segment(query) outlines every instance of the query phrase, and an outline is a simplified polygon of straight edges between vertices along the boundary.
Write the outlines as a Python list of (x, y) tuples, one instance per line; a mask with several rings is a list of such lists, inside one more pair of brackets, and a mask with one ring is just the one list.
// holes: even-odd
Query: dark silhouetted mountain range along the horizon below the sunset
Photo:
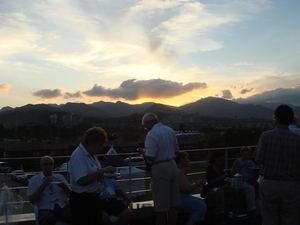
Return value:
[[(278, 104), (280, 105), (280, 104)], [(273, 106), (273, 105), (272, 105)], [(293, 107), (296, 115), (300, 115), (300, 106)], [(132, 114), (145, 114), (148, 112), (160, 112), (170, 115), (194, 114), (197, 116), (226, 117), (226, 118), (258, 118), (270, 119), (274, 109), (261, 105), (239, 104), (233, 101), (208, 97), (180, 107), (146, 102), (142, 104), (127, 104), (124, 102), (94, 102), (92, 104), (67, 103), (55, 104), (28, 104), (22, 107), (3, 107), (0, 110), (0, 124), (27, 124), (49, 123), (49, 116), (56, 114), (79, 114), (83, 117), (112, 118), (125, 117)]]

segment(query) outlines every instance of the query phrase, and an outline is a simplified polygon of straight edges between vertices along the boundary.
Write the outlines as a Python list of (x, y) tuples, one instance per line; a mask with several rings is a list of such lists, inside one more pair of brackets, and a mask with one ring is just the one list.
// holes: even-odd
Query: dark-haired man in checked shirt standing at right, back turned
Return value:
[(289, 130), (293, 110), (280, 105), (274, 130), (259, 138), (253, 157), (261, 164), (260, 199), (263, 225), (298, 225), (300, 197), (300, 135)]

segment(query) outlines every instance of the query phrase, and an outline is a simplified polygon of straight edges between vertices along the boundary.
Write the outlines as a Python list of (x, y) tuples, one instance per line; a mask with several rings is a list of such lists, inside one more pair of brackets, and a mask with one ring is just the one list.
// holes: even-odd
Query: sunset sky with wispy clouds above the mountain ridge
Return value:
[(300, 105), (299, 0), (0, 0), (0, 109)]

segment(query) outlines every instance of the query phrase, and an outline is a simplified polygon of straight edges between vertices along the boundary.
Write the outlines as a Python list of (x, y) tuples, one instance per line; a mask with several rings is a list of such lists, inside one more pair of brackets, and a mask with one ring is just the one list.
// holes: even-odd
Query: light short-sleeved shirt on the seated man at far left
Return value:
[[(66, 185), (68, 182), (61, 174), (52, 174), (53, 181), (63, 181)], [(32, 195), (36, 190), (42, 185), (44, 182), (45, 175), (40, 173), (36, 176), (33, 176), (29, 180), (28, 188), (27, 188), (27, 196)], [(42, 193), (39, 201), (35, 204), (39, 207), (39, 209), (50, 209), (54, 210), (54, 205), (57, 203), (61, 208), (67, 205), (64, 197), (63, 190), (57, 186), (56, 184), (49, 184)]]

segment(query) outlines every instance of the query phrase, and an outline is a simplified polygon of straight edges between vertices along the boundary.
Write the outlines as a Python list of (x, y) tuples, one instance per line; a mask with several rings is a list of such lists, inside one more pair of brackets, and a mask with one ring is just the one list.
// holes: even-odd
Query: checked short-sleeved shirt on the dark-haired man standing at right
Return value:
[(300, 136), (277, 126), (259, 138), (253, 157), (262, 162), (260, 174), (275, 179), (300, 178)]

